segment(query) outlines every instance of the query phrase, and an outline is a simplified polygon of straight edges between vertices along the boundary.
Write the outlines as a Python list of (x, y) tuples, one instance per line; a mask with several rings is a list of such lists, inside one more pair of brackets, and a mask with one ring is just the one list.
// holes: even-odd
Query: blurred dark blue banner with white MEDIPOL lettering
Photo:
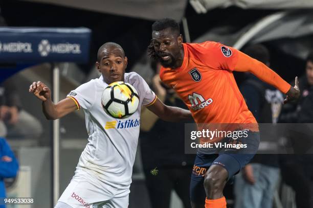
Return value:
[(90, 37), (87, 28), (0, 27), (0, 63), (86, 63)]

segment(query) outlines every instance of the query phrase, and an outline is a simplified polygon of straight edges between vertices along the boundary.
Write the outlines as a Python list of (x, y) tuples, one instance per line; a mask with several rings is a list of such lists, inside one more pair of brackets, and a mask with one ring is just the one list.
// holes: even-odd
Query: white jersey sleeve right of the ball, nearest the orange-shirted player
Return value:
[(157, 96), (150, 89), (147, 82), (137, 73), (131, 72), (129, 83), (132, 84), (138, 91), (140, 100), (143, 106), (149, 106), (157, 101)]

